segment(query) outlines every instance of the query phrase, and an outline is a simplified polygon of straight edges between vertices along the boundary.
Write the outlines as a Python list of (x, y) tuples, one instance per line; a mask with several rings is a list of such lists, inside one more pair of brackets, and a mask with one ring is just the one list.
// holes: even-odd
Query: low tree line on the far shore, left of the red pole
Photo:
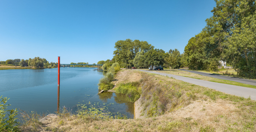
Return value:
[(51, 67), (56, 67), (56, 64), (55, 62), (48, 62), (46, 59), (44, 58), (40, 58), (40, 57), (35, 57), (33, 59), (8, 59), (6, 61), (0, 61), (0, 64), (1, 65), (20, 65), (21, 67), (27, 67), (27, 66), (33, 66), (34, 68), (38, 68), (38, 67), (48, 67), (48, 68), (51, 68)]

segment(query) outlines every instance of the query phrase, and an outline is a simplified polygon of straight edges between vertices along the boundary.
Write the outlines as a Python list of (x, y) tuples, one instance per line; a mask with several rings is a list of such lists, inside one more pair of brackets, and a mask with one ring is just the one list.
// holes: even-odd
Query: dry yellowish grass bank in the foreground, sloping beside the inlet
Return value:
[[(141, 113), (145, 118), (126, 119), (91, 114), (91, 108), (74, 115), (62, 109), (45, 122), (29, 120), (22, 132), (255, 132), (256, 101), (225, 94), (167, 76), (122, 70), (118, 75), (140, 76)], [(116, 76), (116, 84), (126, 83)], [(99, 112), (99, 110), (94, 109)], [(88, 114), (89, 113), (89, 114)], [(100, 113), (100, 112), (99, 112)], [(31, 115), (31, 114), (30, 114)], [(32, 117), (32, 116), (30, 116)], [(35, 117), (35, 116), (34, 116)], [(41, 117), (40, 117), (41, 118)]]

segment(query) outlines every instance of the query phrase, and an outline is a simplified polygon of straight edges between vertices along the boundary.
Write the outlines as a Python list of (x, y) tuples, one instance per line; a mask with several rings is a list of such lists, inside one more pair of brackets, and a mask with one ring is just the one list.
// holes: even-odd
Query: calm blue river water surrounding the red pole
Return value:
[[(134, 104), (122, 94), (98, 94), (103, 71), (90, 67), (61, 67), (60, 107), (76, 110), (76, 104), (99, 103), (110, 112), (134, 117)], [(10, 98), (8, 109), (19, 108), (38, 113), (57, 111), (58, 68), (0, 70), (0, 96)], [(111, 105), (110, 105), (111, 103)]]

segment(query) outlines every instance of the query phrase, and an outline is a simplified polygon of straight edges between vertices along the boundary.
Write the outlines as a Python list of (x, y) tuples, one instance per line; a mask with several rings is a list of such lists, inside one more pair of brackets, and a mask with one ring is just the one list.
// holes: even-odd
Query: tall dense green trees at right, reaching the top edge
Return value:
[(217, 70), (219, 61), (232, 65), (238, 76), (256, 78), (255, 0), (215, 0), (213, 16), (185, 47), (189, 69)]

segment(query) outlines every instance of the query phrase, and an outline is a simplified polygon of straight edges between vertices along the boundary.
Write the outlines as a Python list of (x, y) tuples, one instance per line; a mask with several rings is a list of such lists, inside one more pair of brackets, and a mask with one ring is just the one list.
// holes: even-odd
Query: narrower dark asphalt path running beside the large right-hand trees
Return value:
[(194, 70), (184, 70), (184, 69), (178, 69), (178, 70), (183, 70), (203, 76), (209, 76), (217, 79), (222, 79), (222, 80), (229, 80), (229, 81), (234, 81), (234, 82), (241, 82), (244, 84), (249, 84), (249, 85), (255, 85), (256, 86), (256, 80), (250, 80), (250, 79), (242, 79), (242, 78), (237, 78), (237, 77), (232, 77), (232, 76), (222, 76), (222, 75), (217, 75), (217, 74), (210, 74), (210, 73), (204, 73), (200, 71), (194, 71)]

